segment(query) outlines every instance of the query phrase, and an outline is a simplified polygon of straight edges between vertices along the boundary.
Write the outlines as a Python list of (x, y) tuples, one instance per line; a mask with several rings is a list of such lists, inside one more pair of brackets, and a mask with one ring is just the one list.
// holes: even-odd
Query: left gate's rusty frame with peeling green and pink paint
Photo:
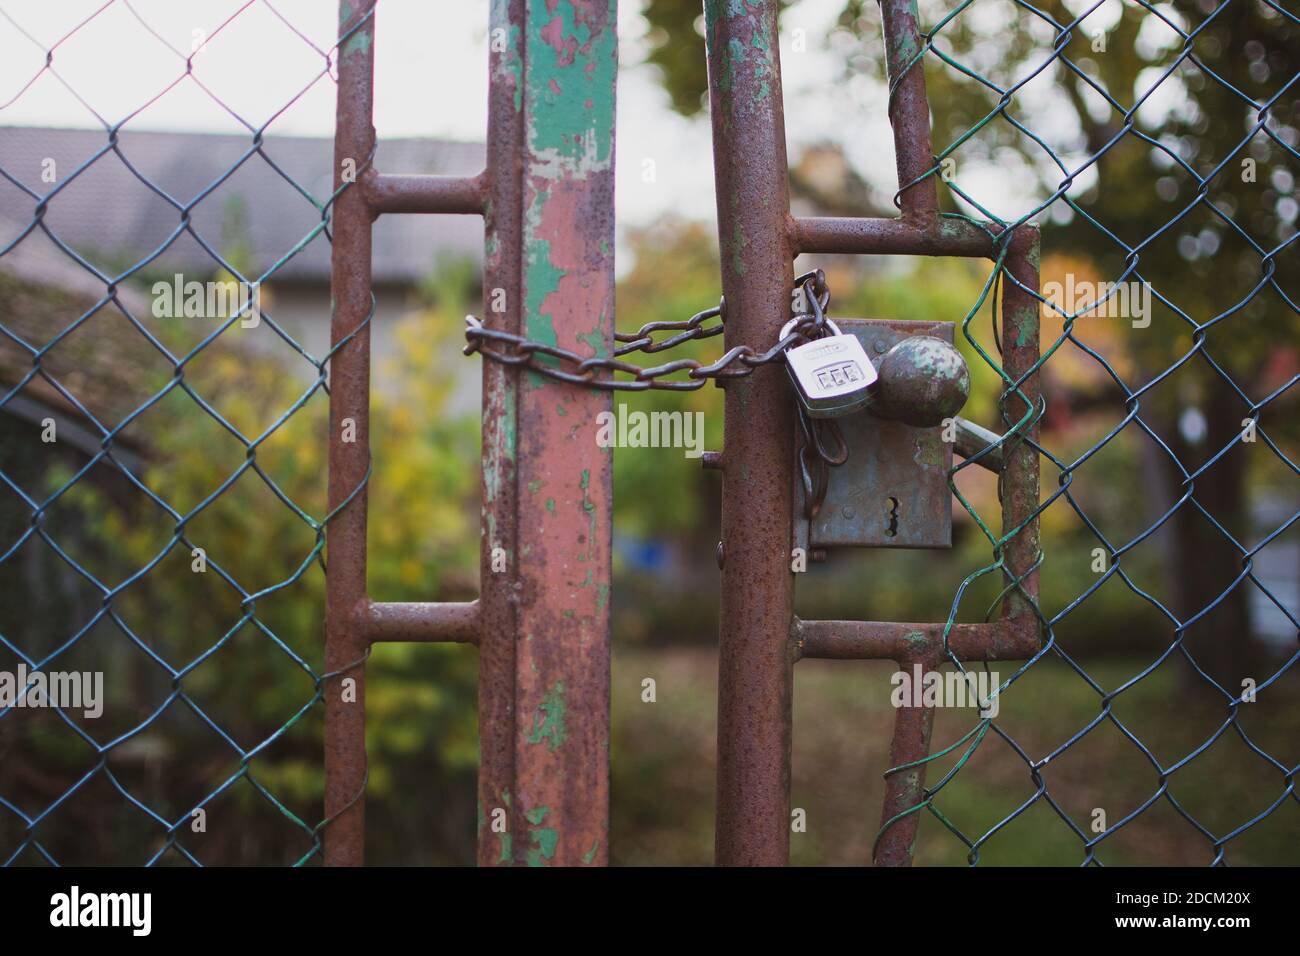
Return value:
[[(376, 217), (482, 216), (485, 303), (504, 303), (503, 311), (488, 304), (485, 324), (592, 355), (612, 352), (615, 7), (615, 0), (494, 0), (486, 169), (442, 177), (373, 168), (376, 0), (341, 0), (326, 865), (364, 860), (364, 662), (382, 641), (478, 648), (481, 865), (608, 861), (612, 473), (595, 433), (610, 394), (484, 363), (477, 601), (372, 601), (365, 540)], [(358, 170), (351, 183), (358, 189), (344, 187), (350, 168)], [(355, 427), (351, 442), (342, 437), (347, 419)]]

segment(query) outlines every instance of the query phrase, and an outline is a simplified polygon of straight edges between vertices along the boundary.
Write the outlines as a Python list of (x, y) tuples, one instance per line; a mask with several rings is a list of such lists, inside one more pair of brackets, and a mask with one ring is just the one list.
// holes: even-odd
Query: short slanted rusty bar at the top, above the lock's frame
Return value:
[(939, 196), (935, 178), (922, 179), (933, 166), (933, 153), (916, 0), (883, 0), (880, 16), (889, 69), (889, 125), (902, 190), (898, 202), (905, 220), (928, 225), (939, 215)]

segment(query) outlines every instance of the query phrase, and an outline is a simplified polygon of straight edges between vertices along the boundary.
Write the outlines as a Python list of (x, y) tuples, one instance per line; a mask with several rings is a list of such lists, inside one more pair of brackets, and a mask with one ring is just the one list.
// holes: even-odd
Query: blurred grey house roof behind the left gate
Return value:
[[(13, 181), (38, 195), (57, 189), (46, 225), (109, 274), (151, 255), (181, 225), (181, 212), (159, 193), (186, 206), (217, 183), (194, 207), (192, 229), (222, 255), (246, 248), (251, 268), (260, 274), (320, 224), (320, 213), (285, 177), (317, 202), (332, 189), (334, 146), (328, 138), (266, 137), (260, 152), (242, 164), (252, 150), (251, 135), (122, 130), (116, 150), (105, 151), (108, 144), (104, 130), (0, 127), (0, 250), (35, 215), (36, 200)], [(53, 183), (42, 181), (49, 159), (55, 161)], [(394, 173), (467, 176), (480, 172), (482, 164), (481, 143), (438, 139), (389, 139), (380, 143), (376, 155), (376, 165)], [(477, 256), (481, 250), (482, 225), (472, 217), (385, 216), (374, 225), (374, 280), (415, 282), (441, 256)], [(329, 242), (318, 234), (269, 281), (328, 281), (329, 255)], [(182, 234), (150, 271), (203, 276), (216, 265), (198, 241)]]

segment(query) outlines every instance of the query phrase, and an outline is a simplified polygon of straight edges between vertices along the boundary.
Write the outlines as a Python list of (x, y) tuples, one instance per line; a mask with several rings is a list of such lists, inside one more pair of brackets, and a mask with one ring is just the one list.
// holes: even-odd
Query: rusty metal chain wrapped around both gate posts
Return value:
[[(485, 359), (499, 362), (503, 365), (528, 368), (547, 378), (606, 392), (646, 392), (650, 389), (694, 392), (708, 380), (742, 378), (760, 365), (784, 362), (788, 349), (826, 334), (826, 310), (831, 304), (831, 287), (826, 282), (826, 273), (822, 269), (806, 272), (794, 280), (794, 286), (802, 287), (802, 299), (807, 311), (796, 313), (798, 321), (790, 326), (788, 334), (763, 352), (755, 351), (748, 345), (737, 345), (710, 364), (696, 359), (677, 359), (644, 368), (630, 362), (623, 362), (620, 356), (630, 352), (660, 352), (684, 342), (722, 334), (727, 321), (725, 298), (719, 299), (714, 308), (697, 312), (690, 319), (646, 323), (636, 332), (615, 332), (614, 341), (618, 345), (614, 349), (614, 358), (610, 359), (584, 358), (568, 349), (537, 342), (512, 332), (489, 329), (471, 315), (465, 316), (467, 343), (464, 354), (478, 352)], [(705, 325), (705, 321), (712, 317), (718, 319), (718, 324)], [(676, 332), (677, 334), (656, 342), (654, 336), (659, 332)], [(493, 347), (489, 343), (500, 343), (504, 347)], [(560, 364), (543, 362), (538, 358), (540, 355), (559, 359)], [(611, 373), (624, 372), (632, 378), (614, 378), (612, 375), (602, 377), (601, 373), (606, 371)], [(681, 371), (686, 372), (685, 380), (667, 377)], [(800, 419), (798, 462), (800, 477), (803, 481), (803, 511), (805, 516), (811, 520), (826, 499), (829, 470), (849, 459), (849, 449), (835, 420), (810, 418), (798, 399), (796, 399), (794, 407)]]

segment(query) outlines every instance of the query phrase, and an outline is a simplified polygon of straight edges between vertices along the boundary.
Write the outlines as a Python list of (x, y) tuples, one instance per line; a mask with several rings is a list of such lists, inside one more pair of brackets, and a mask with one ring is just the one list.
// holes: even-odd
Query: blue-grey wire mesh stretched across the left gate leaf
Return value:
[[(263, 18), (260, 29), (285, 33), (283, 49), (302, 44), (316, 60), (315, 68), (299, 74), (298, 92), (257, 121), (224, 101), (202, 61), (209, 47), (228, 38), (238, 44), (240, 20), (251, 14)], [(174, 64), (170, 82), (125, 116), (101, 116), (91, 103), (94, 94), (75, 88), (61, 73), (66, 60), (88, 56), (81, 38), (99, 17), (130, 18), (134, 29), (156, 40), (150, 47), (152, 65)], [(51, 168), (43, 178), (39, 164), (0, 168), (5, 224), (0, 291), (6, 306), (0, 312), (0, 414), (18, 423), (6, 427), (0, 460), (3, 669), (25, 667), (34, 675), (79, 671), (87, 662), (101, 667), (108, 685), (104, 710), (112, 718), (104, 731), (94, 719), (79, 719), (74, 709), (52, 708), (43, 711), (43, 722), (32, 723), (35, 711), (27, 708), (36, 701), (26, 696), (35, 676), (20, 689), (23, 700), (0, 710), (6, 753), (0, 774), (0, 858), (152, 865), (199, 864), (214, 855), (225, 861), (311, 861), (321, 851), (328, 822), (320, 818), (320, 741), (313, 722), (322, 682), (332, 676), (322, 672), (316, 645), (324, 613), (325, 531), (333, 515), (325, 512), (321, 462), (313, 466), (309, 455), (303, 457), (307, 453), (286, 451), (281, 442), (286, 436), (306, 437), (324, 457), (322, 393), (329, 389), (330, 356), (343, 342), (312, 354), (277, 323), (274, 303), (257, 303), (251, 293), (220, 315), (200, 308), (200, 315), (188, 317), (160, 316), (140, 282), (166, 267), (182, 242), (192, 243), (191, 250), (196, 245), (208, 259), (207, 269), (191, 265), (186, 281), (224, 276), (246, 290), (260, 290), (304, 254), (328, 250), (332, 206), (351, 178), (333, 193), (332, 177), (295, 179), (266, 135), (311, 90), (318, 85), (333, 90), (338, 48), (347, 36), (325, 48), (274, 4), (256, 0), (208, 25), (190, 49), (169, 42), (129, 0), (99, 5), (57, 38), (32, 35), (25, 10), (6, 4), (0, 8), (0, 34), (6, 49), (34, 48), (39, 64), (26, 83), (0, 94), (8, 98), (0, 101), (0, 120), (4, 107), (18, 103), (35, 85), (53, 82), (101, 129), (98, 144), (73, 169)], [(285, 70), (277, 73), (283, 75)], [(140, 140), (131, 137), (147, 135), (135, 134), (133, 124), (178, 90), (200, 91), (243, 137), (238, 157), (192, 194), (177, 194), (146, 172), (139, 153), (133, 157), (131, 144)], [(321, 165), (328, 169), (329, 143), (320, 143)], [(39, 153), (32, 159), (39, 163)], [(166, 204), (170, 217), (166, 235), (131, 261), (113, 261), (118, 232), (104, 211), (113, 196), (88, 196), (88, 225), (103, 235), (96, 248), (86, 242), (74, 247), (51, 213), (79, 183), (94, 181), (88, 173), (108, 164), (125, 166), (150, 202)], [(283, 248), (250, 248), (251, 237), (238, 228), (229, 235), (213, 234), (211, 213), (226, 202), (225, 186), (254, 165), (273, 170), (278, 189), (312, 209), (313, 224)], [(84, 238), (87, 229), (81, 233)], [(155, 306), (157, 294), (155, 287)], [(173, 306), (165, 312), (179, 308), (178, 302)], [(255, 308), (260, 325), (254, 324)], [(178, 321), (169, 324), (173, 317)], [(322, 310), (321, 325), (328, 326), (328, 319)], [(250, 328), (261, 337), (257, 349), (239, 341)], [(213, 372), (222, 367), (225, 378)], [(265, 402), (272, 405), (261, 407)], [(177, 423), (203, 424), (168, 436)], [(160, 492), (160, 481), (170, 492)], [(303, 489), (311, 501), (295, 499)], [(229, 537), (218, 544), (204, 522), (235, 499), (222, 520), (238, 525), (242, 515), (264, 533), (246, 527), (250, 533), (234, 544)], [(124, 514), (125, 522), (113, 516)], [(276, 515), (283, 516), (278, 524), (272, 520)], [(148, 528), (161, 531), (152, 541), (126, 546)], [(272, 528), (287, 529), (286, 540), (268, 540)], [(277, 572), (270, 580), (255, 580), (261, 575), (254, 572), (252, 559), (272, 553)], [(315, 607), (316, 619), (289, 627), (277, 604), (286, 593), (299, 609)], [(200, 615), (209, 605), (230, 602), (238, 610), (229, 627), (216, 632), (174, 613), (188, 606)], [(162, 613), (168, 609), (170, 619)], [(217, 667), (213, 659), (222, 652), (226, 657)], [(298, 688), (291, 705), (281, 700), (282, 687)], [(142, 774), (142, 765), (155, 770)], [(186, 783), (160, 786), (157, 767), (168, 780)], [(268, 775), (270, 784), (264, 782)], [(224, 800), (239, 801), (246, 821), (260, 816), (278, 821), (259, 829), (255, 843), (263, 845), (231, 853), (229, 842), (238, 844), (242, 827), (224, 826), (228, 849), (198, 848), (207, 832), (204, 814), (216, 813)], [(95, 826), (75, 810), (82, 801), (90, 804), (86, 810), (94, 812)], [(268, 839), (277, 826), (283, 836)]]

